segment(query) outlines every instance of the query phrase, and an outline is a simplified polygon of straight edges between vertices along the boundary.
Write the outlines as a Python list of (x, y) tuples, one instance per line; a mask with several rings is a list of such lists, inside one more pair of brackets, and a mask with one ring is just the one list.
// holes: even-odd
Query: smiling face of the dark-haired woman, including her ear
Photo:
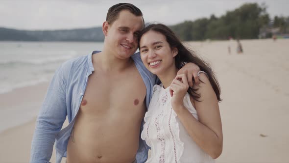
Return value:
[(161, 75), (175, 67), (176, 48), (170, 48), (166, 37), (155, 31), (143, 34), (140, 40), (140, 53), (145, 67), (155, 75)]

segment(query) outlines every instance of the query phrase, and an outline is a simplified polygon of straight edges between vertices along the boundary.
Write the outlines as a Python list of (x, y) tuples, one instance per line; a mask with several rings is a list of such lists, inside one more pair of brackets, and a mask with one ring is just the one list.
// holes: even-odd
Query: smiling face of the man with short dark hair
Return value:
[(136, 52), (138, 34), (144, 27), (142, 16), (135, 16), (128, 10), (122, 10), (118, 19), (107, 26), (107, 49), (111, 53), (125, 59)]

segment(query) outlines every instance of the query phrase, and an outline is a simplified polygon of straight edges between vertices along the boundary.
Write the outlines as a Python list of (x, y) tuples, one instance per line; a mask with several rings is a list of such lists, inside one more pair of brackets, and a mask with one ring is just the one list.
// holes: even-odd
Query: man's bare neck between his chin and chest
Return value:
[(103, 71), (123, 71), (133, 63), (131, 57), (126, 59), (117, 58), (116, 55), (107, 51), (92, 56), (93, 63), (97, 63)]

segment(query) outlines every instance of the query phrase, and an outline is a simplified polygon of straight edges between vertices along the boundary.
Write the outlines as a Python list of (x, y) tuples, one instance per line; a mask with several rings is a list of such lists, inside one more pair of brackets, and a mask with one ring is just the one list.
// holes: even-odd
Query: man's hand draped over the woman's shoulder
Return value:
[(196, 64), (194, 63), (187, 63), (184, 67), (182, 67), (177, 75), (180, 75), (180, 74), (185, 74), (185, 71), (188, 71), (188, 74), (187, 74), (187, 79), (188, 79), (188, 83), (189, 83), (189, 86), (190, 87), (193, 87), (193, 79), (194, 79), (194, 82), (195, 84), (199, 84), (199, 77), (198, 77), (198, 72), (200, 71), (200, 68), (199, 66), (197, 66)]

